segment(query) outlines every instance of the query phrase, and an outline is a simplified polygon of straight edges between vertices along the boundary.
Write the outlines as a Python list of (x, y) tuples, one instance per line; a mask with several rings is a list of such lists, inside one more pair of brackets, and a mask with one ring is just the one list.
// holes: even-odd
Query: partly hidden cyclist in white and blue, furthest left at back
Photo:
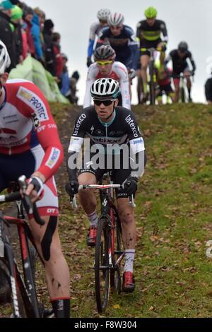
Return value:
[(100, 31), (102, 28), (108, 25), (107, 17), (110, 15), (109, 9), (100, 9), (98, 11), (98, 20), (99, 22), (95, 22), (90, 25), (90, 35), (89, 35), (89, 45), (88, 45), (88, 56), (87, 56), (87, 66), (89, 67), (90, 64), (93, 64), (91, 57), (93, 55), (94, 44), (95, 44), (95, 37), (100, 35)]

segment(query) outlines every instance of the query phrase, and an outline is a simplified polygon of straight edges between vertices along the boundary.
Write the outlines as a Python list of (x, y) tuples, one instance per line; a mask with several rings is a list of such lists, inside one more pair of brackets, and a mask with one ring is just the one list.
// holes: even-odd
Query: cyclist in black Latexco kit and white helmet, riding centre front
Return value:
[[(83, 109), (76, 119), (68, 153), (69, 184), (66, 191), (70, 196), (78, 192), (79, 184), (96, 184), (105, 171), (112, 171), (112, 180), (115, 184), (123, 184), (117, 189), (117, 208), (123, 227), (123, 242), (125, 249), (124, 285), (123, 290), (132, 292), (135, 287), (133, 275), (133, 262), (136, 244), (136, 221), (134, 209), (129, 205), (128, 196), (135, 194), (137, 182), (144, 172), (144, 143), (136, 121), (136, 117), (124, 107), (117, 107), (120, 93), (119, 83), (112, 78), (100, 78), (91, 87), (94, 106)], [(76, 158), (85, 136), (90, 138), (89, 158), (78, 171)], [(119, 149), (124, 147), (126, 149)], [(91, 150), (97, 148), (98, 155), (103, 156), (105, 165), (95, 165)], [(113, 150), (114, 149), (114, 150)], [(119, 155), (120, 165), (116, 167), (115, 157)], [(112, 157), (109, 168), (107, 158)], [(126, 159), (131, 162), (124, 166)], [(137, 166), (137, 167), (136, 167)], [(98, 215), (96, 213), (96, 198), (90, 189), (81, 190), (79, 198), (84, 211), (90, 220), (90, 230), (87, 243), (95, 246), (97, 235)]]

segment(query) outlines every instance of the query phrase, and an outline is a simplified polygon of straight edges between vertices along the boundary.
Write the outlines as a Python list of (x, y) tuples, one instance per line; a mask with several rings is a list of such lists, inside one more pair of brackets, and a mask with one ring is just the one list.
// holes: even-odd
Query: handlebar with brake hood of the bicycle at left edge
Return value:
[(27, 182), (26, 182), (26, 177), (23, 175), (22, 177), (19, 177), (18, 179), (20, 189), (23, 191), (23, 196), (20, 194), (19, 191), (13, 192), (11, 194), (6, 194), (6, 195), (0, 195), (0, 203), (6, 203), (6, 202), (13, 202), (13, 201), (23, 201), (23, 206), (25, 207), (25, 211), (33, 215), (35, 218), (35, 221), (38, 225), (45, 225), (45, 220), (42, 220), (40, 218), (40, 214), (37, 211), (37, 206), (35, 203), (32, 203), (30, 201), (30, 197), (25, 194), (25, 191), (27, 189)]

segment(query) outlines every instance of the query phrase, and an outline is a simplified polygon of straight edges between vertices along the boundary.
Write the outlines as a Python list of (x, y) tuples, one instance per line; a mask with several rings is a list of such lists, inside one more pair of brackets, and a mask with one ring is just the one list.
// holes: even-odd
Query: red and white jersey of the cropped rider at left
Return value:
[(20, 154), (42, 146), (45, 155), (37, 171), (49, 179), (61, 165), (64, 152), (45, 96), (34, 83), (23, 80), (7, 81), (4, 92), (0, 153)]

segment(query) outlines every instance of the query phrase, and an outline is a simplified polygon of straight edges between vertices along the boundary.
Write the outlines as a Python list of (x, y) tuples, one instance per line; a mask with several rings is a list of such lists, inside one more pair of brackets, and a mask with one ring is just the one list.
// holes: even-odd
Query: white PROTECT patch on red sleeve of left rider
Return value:
[(22, 86), (18, 90), (17, 97), (34, 110), (40, 122), (49, 120), (47, 107), (38, 95)]

